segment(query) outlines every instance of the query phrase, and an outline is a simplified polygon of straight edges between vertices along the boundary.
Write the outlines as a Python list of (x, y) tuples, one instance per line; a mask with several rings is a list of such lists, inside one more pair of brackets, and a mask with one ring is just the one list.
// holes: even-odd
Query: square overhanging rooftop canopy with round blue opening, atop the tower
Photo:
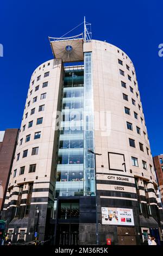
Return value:
[(68, 38), (49, 37), (54, 58), (61, 58), (63, 62), (82, 62), (83, 57), (83, 33)]

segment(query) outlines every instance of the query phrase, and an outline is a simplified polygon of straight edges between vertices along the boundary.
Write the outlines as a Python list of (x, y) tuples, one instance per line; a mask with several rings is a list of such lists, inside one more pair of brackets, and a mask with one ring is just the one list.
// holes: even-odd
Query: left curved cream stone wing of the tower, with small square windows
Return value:
[(53, 115), (60, 107), (62, 74), (61, 59), (53, 59), (41, 64), (30, 80), (3, 211), (12, 242), (33, 241), (38, 227), (43, 240), (45, 228), (50, 229), (46, 220), (54, 205), (57, 149)]

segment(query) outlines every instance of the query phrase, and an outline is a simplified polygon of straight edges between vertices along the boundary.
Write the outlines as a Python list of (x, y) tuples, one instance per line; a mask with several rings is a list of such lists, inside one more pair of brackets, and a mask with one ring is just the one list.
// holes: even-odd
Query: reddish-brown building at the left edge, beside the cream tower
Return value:
[(9, 175), (16, 149), (18, 129), (0, 131), (0, 213), (8, 188)]

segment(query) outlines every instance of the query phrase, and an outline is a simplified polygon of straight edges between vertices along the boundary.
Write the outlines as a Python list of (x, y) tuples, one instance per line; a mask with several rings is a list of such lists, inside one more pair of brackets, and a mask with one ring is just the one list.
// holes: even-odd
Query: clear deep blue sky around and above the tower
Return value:
[(120, 47), (133, 60), (152, 154), (163, 153), (161, 1), (8, 0), (0, 10), (0, 130), (20, 127), (30, 76), (53, 58), (48, 36), (63, 35), (85, 15), (93, 39)]

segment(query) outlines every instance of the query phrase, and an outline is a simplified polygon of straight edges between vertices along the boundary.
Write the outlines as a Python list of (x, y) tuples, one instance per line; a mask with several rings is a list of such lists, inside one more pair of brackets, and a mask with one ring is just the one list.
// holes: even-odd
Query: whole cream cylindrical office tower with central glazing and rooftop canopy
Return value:
[(32, 74), (5, 199), (9, 239), (37, 232), (55, 245), (96, 245), (98, 231), (101, 245), (139, 245), (148, 234), (160, 242), (133, 63), (87, 34), (49, 40), (54, 59)]

